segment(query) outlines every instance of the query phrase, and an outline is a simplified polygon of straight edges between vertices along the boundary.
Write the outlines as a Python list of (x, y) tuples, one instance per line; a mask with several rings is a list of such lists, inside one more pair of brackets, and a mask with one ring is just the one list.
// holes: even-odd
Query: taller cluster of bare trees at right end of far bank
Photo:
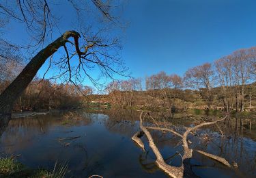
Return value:
[[(256, 48), (234, 51), (214, 64), (190, 68), (184, 77), (188, 86), (203, 88), (203, 97), (210, 108), (214, 98), (222, 101), (226, 112), (244, 110), (245, 87), (255, 81)], [(213, 88), (218, 88), (214, 94)]]

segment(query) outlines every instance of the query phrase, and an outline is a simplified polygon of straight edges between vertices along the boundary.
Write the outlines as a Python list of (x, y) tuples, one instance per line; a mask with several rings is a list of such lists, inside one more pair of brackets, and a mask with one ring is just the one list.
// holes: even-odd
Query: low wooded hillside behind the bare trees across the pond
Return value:
[[(241, 86), (240, 86), (241, 87)], [(224, 110), (221, 87), (212, 88), (211, 109)], [(235, 87), (231, 87), (235, 91)], [(92, 94), (90, 101), (111, 103), (112, 107), (147, 108), (150, 110), (170, 109), (186, 111), (188, 108), (208, 109), (205, 100), (205, 88), (199, 90), (162, 88), (155, 90), (113, 90), (109, 94)], [(236, 110), (236, 97), (231, 99), (231, 110)], [(244, 110), (256, 110), (256, 82), (244, 87)], [(251, 108), (250, 108), (251, 107)], [(239, 108), (238, 108), (239, 110)]]

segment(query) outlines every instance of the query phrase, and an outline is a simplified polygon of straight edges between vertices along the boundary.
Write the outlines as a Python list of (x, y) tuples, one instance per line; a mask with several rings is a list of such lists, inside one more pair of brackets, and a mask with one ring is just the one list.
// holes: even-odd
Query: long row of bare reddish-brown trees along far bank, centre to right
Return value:
[[(154, 100), (158, 106), (175, 110), (175, 106), (181, 105), (181, 103), (183, 103), (182, 107), (186, 108), (189, 107), (188, 101), (201, 99), (203, 100), (201, 105), (205, 105), (208, 109), (222, 107), (225, 112), (231, 112), (231, 110), (242, 112), (244, 111), (245, 97), (249, 96), (253, 99), (255, 97), (255, 86), (253, 85), (256, 73), (255, 51), (255, 47), (234, 51), (212, 64), (205, 63), (189, 68), (183, 77), (175, 74), (167, 75), (162, 71), (156, 75), (145, 77), (144, 81), (142, 79), (113, 81), (109, 84), (107, 92), (111, 95), (113, 103), (119, 105), (122, 103), (123, 106), (126, 105), (124, 101), (128, 100), (128, 106), (131, 106), (130, 103), (145, 105)], [(143, 82), (145, 87), (141, 87)], [(125, 84), (140, 87), (126, 88), (123, 86)], [(134, 97), (134, 93), (141, 94), (138, 92), (141, 90), (145, 90), (144, 95), (149, 98), (142, 103), (136, 101), (138, 97)], [(128, 94), (133, 94), (133, 97), (130, 96), (127, 99)], [(249, 104), (247, 103), (247, 107), (250, 109), (253, 107), (251, 102), (252, 99)], [(193, 106), (190, 105), (190, 107)]]

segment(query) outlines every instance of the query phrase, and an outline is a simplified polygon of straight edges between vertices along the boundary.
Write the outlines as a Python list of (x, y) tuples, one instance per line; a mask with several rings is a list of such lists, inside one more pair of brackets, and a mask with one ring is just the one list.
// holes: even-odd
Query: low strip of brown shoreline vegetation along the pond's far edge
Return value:
[[(86, 105), (85, 107), (77, 107), (77, 108), (72, 108), (69, 110), (35, 110), (33, 112), (31, 111), (23, 111), (23, 112), (14, 112), (12, 114), (12, 118), (25, 118), (29, 116), (39, 116), (39, 115), (46, 115), (46, 114), (54, 114), (57, 112), (62, 112), (63, 113), (63, 125), (70, 123), (70, 120), (81, 120), (81, 116), (79, 113), (76, 111), (78, 110), (86, 110), (87, 112), (111, 112), (111, 110), (115, 111), (122, 111), (122, 110), (129, 110), (129, 111), (134, 111), (134, 112), (141, 112), (141, 111), (147, 111), (147, 112), (160, 112), (160, 113), (168, 113), (169, 118), (184, 118), (184, 117), (192, 117), (192, 116), (218, 116), (222, 117), (226, 115), (227, 113), (223, 110), (209, 110), (209, 109), (197, 109), (197, 108), (189, 108), (186, 111), (180, 111), (176, 110), (175, 112), (171, 112), (168, 109), (160, 109), (158, 110), (150, 110), (149, 108), (146, 107), (132, 107), (132, 108), (120, 108), (120, 107), (115, 107), (111, 105)], [(256, 111), (251, 110), (251, 111), (243, 111), (243, 112), (236, 112), (236, 111), (231, 111), (229, 113), (229, 116), (233, 118), (242, 118), (246, 120), (256, 120)]]

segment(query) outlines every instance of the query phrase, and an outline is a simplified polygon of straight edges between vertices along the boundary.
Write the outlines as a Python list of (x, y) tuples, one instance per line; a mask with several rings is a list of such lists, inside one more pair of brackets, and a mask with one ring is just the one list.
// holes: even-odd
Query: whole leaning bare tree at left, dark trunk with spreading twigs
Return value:
[[(57, 18), (51, 10), (51, 4), (46, 0), (38, 1), (16, 1), (16, 3), (0, 3), (0, 10), (3, 16), (7, 16), (12, 21), (18, 21), (25, 24), (33, 44), (23, 47), (27, 49), (38, 49), (38, 53), (29, 60), (29, 63), (23, 71), (12, 81), (0, 95), (0, 117), (1, 123), (6, 124), (10, 119), (12, 107), (16, 99), (27, 88), (29, 83), (35, 77), (38, 70), (49, 58), (49, 67), (54, 64), (59, 66), (59, 74), (52, 76), (51, 79), (59, 79), (77, 86), (86, 76), (93, 84), (99, 84), (98, 80), (91, 77), (89, 71), (98, 67), (101, 71), (100, 77), (113, 77), (114, 73), (124, 75), (126, 68), (122, 65), (118, 51), (120, 49), (119, 38), (108, 36), (109, 31), (106, 27), (118, 27), (118, 21), (111, 16), (111, 10), (118, 5), (111, 4), (111, 1), (91, 0), (89, 1), (72, 0), (67, 1), (69, 8), (74, 8), (77, 12), (77, 21), (81, 21), (83, 10), (86, 8), (96, 8), (102, 16), (107, 19), (102, 21), (98, 28), (87, 28), (81, 26), (81, 33), (78, 31), (66, 31), (59, 38), (51, 41), (48, 34), (57, 28)], [(58, 3), (63, 3), (59, 1)], [(95, 12), (95, 11), (94, 11)], [(80, 18), (79, 18), (80, 17)], [(94, 21), (94, 19), (91, 19)], [(98, 23), (101, 24), (101, 23)], [(83, 25), (83, 23), (79, 23)], [(107, 26), (106, 26), (107, 25)], [(89, 30), (90, 29), (90, 30)], [(73, 39), (73, 42), (70, 41)], [(82, 42), (79, 39), (83, 39)], [(44, 47), (45, 42), (49, 44)], [(59, 50), (62, 48), (62, 50)], [(61, 58), (54, 58), (56, 51), (63, 54)], [(3, 57), (5, 58), (5, 57)], [(76, 62), (73, 62), (76, 61)], [(48, 70), (46, 71), (48, 72)]]

